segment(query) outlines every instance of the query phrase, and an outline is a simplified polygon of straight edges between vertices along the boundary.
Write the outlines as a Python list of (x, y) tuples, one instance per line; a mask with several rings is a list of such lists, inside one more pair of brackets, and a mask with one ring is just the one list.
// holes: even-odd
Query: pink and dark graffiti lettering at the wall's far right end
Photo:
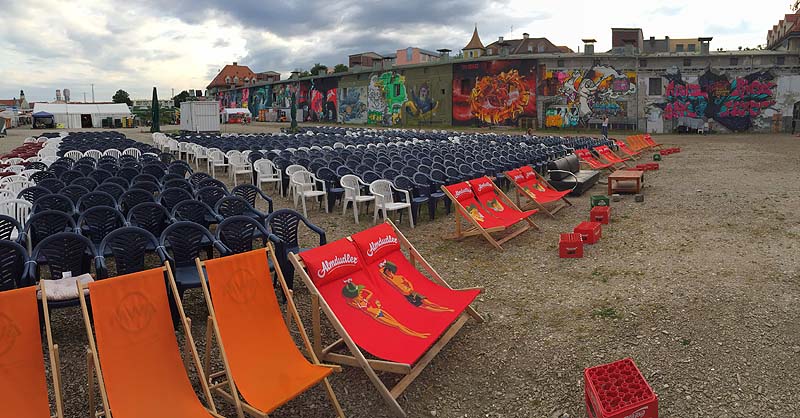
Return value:
[(731, 131), (746, 131), (776, 103), (777, 84), (768, 71), (730, 79), (707, 70), (696, 82), (674, 71), (664, 78), (668, 80), (665, 100), (657, 106), (664, 110), (665, 120), (713, 119)]

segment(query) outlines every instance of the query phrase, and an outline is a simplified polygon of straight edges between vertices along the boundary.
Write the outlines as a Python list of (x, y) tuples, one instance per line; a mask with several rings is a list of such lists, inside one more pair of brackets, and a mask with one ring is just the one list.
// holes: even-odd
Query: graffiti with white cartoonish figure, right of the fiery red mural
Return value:
[(585, 126), (590, 118), (628, 117), (627, 102), (636, 93), (636, 73), (610, 66), (588, 70), (547, 71), (542, 95), (561, 98), (564, 106), (550, 106), (546, 127)]

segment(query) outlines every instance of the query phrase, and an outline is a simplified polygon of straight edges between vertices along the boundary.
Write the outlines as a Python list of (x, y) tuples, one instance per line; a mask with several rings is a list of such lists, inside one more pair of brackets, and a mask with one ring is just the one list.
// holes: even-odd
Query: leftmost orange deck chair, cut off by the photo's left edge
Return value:
[[(44, 285), (41, 292), (42, 300), (47, 300)], [(4, 417), (64, 417), (58, 346), (53, 344), (50, 313), (47, 304), (43, 303), (47, 354), (56, 404), (55, 415), (50, 413), (38, 305), (36, 287), (33, 286), (0, 293), (0, 415)]]

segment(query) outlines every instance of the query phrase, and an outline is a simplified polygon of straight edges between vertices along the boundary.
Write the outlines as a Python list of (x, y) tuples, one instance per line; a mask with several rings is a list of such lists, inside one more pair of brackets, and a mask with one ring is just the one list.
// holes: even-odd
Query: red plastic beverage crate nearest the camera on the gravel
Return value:
[(589, 418), (658, 418), (658, 397), (633, 360), (583, 371)]

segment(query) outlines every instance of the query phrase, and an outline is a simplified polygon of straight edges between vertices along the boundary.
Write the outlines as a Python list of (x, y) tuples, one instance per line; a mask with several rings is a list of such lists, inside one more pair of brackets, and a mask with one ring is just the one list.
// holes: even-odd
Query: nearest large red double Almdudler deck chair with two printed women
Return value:
[[(451, 288), (391, 221), (289, 258), (311, 293), (314, 351), (361, 367), (398, 417), (397, 398), (469, 318), (483, 322), (470, 307), (481, 290)], [(320, 310), (341, 337), (328, 346)], [(377, 372), (403, 377), (389, 389)]]

